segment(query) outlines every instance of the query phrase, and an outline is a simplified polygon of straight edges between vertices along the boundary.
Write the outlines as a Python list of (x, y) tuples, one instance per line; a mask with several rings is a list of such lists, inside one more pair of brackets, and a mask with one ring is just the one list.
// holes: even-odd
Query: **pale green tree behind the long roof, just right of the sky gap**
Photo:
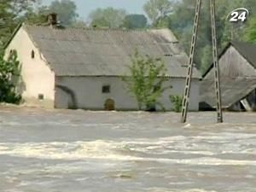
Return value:
[(169, 0), (149, 0), (144, 4), (144, 11), (152, 22), (152, 26), (159, 26), (167, 15), (172, 13), (172, 2)]

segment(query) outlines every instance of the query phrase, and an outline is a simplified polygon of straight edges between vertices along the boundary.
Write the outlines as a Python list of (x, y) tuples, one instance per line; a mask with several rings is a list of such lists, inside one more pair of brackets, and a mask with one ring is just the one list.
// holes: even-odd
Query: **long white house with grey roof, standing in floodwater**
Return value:
[[(136, 110), (137, 102), (121, 77), (129, 73), (135, 49), (166, 62), (169, 81), (160, 102), (172, 109), (169, 96), (183, 95), (188, 56), (168, 29), (109, 30), (20, 25), (6, 54), (18, 53), (20, 91), (25, 102), (47, 108)], [(200, 74), (192, 80), (190, 110), (199, 108)]]

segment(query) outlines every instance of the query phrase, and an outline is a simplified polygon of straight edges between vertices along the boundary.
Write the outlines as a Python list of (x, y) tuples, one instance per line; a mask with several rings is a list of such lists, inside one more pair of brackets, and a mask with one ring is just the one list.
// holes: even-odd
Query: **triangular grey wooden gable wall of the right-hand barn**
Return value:
[[(255, 77), (255, 68), (234, 48), (230, 46), (219, 59), (219, 71), (221, 79), (237, 77)], [(205, 79), (214, 80), (214, 70), (207, 73)]]

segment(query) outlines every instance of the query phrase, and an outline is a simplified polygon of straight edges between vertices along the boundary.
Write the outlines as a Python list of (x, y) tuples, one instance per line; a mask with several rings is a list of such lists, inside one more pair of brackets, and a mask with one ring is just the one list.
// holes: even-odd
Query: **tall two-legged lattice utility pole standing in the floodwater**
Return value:
[[(210, 0), (211, 7), (211, 23), (212, 23), (212, 57), (213, 57), (213, 67), (214, 67), (214, 78), (215, 78), (215, 92), (217, 99), (217, 113), (218, 113), (218, 123), (223, 122), (223, 113), (221, 108), (221, 92), (219, 85), (219, 68), (218, 68), (218, 49), (217, 49), (217, 40), (216, 40), (216, 25), (215, 25), (215, 0)], [(194, 56), (195, 56), (195, 45), (197, 39), (197, 31), (199, 26), (199, 17), (201, 13), (201, 0), (196, 0), (195, 6), (195, 19), (194, 19), (194, 28), (191, 41), (191, 47), (189, 52), (189, 67), (188, 74), (186, 78), (186, 85), (183, 94), (183, 107), (182, 107), (182, 123), (187, 121), (187, 114), (189, 108), (189, 95), (191, 90), (191, 79), (193, 77), (193, 66), (194, 66)]]

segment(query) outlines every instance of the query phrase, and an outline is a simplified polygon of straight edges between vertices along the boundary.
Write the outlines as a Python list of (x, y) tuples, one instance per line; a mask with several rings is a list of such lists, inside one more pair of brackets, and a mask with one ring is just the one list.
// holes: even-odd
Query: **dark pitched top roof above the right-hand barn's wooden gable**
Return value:
[[(221, 54), (218, 56), (218, 58), (221, 58), (222, 55), (226, 52), (227, 49), (230, 48), (230, 46), (235, 47), (235, 49), (253, 66), (256, 68), (256, 44), (253, 43), (245, 43), (245, 42), (237, 42), (237, 41), (231, 41), (227, 46), (224, 48), (224, 50), (221, 52)], [(202, 75), (202, 77), (206, 77), (207, 73), (211, 71), (213, 67), (212, 65), (207, 69), (207, 71)]]

